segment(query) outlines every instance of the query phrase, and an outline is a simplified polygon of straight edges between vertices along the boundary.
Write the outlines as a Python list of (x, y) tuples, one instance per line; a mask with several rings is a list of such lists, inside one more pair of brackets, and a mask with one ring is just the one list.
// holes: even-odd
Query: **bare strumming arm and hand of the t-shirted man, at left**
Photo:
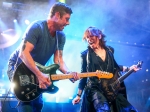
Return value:
[(22, 49), (20, 50), (19, 57), (24, 62), (24, 64), (36, 75), (39, 86), (42, 89), (47, 88), (51, 84), (50, 78), (48, 75), (43, 74), (35, 65), (35, 62), (31, 56), (31, 51), (33, 50), (34, 45), (28, 41), (25, 41), (22, 45)]

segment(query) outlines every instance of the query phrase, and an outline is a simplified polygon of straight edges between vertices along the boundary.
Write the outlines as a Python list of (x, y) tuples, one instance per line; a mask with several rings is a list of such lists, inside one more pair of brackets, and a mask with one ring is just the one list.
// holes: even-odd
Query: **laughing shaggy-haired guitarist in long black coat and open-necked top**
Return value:
[[(87, 41), (88, 49), (81, 53), (81, 72), (101, 70), (113, 73), (114, 76), (111, 79), (80, 79), (78, 92), (72, 103), (78, 104), (84, 91), (80, 112), (137, 112), (126, 98), (123, 79), (140, 68), (137, 65), (119, 66), (113, 56), (114, 49), (106, 46), (105, 35), (98, 28), (86, 29), (83, 39)], [(128, 72), (121, 77), (119, 71)]]

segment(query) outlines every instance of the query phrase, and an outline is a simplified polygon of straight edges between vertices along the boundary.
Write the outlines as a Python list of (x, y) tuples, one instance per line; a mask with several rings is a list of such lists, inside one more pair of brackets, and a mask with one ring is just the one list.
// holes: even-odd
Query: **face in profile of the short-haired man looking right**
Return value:
[(63, 30), (65, 26), (69, 25), (70, 14), (64, 14), (62, 17), (59, 16), (57, 30)]

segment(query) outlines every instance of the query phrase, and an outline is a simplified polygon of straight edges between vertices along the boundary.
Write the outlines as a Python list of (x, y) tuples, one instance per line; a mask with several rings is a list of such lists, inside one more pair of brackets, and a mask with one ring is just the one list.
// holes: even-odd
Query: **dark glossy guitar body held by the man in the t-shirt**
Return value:
[[(59, 65), (53, 64), (49, 66), (49, 75), (56, 74)], [(12, 79), (14, 83), (14, 93), (17, 99), (28, 102), (36, 99), (41, 93), (47, 92), (54, 94), (58, 91), (58, 87), (53, 84), (47, 89), (40, 89), (36, 75), (29, 70), (24, 63), (21, 63), (14, 72)]]

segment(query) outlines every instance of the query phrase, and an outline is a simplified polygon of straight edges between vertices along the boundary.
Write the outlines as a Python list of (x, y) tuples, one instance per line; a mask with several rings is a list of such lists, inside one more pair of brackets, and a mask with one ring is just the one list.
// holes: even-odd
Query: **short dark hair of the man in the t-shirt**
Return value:
[(50, 9), (50, 17), (53, 17), (56, 12), (60, 13), (60, 17), (62, 17), (65, 13), (72, 14), (72, 9), (65, 3), (57, 2)]

